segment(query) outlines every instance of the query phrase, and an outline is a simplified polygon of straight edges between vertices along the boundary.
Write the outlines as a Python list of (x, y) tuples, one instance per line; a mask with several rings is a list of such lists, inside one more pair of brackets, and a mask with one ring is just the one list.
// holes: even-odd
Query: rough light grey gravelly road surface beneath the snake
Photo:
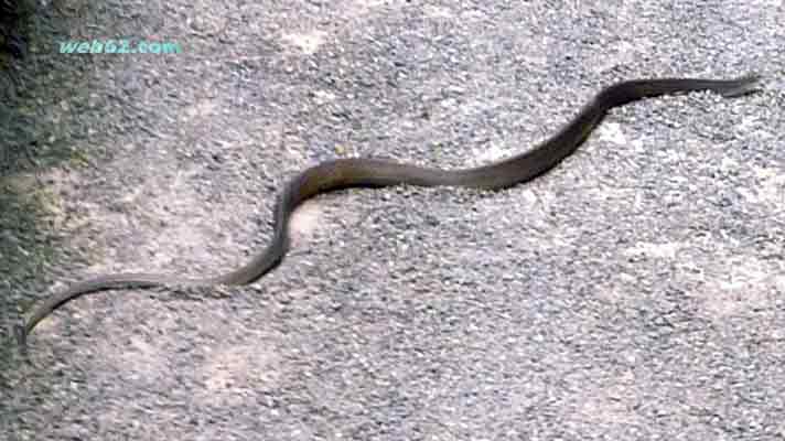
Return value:
[[(615, 109), (509, 190), (320, 196), (249, 287), (68, 303), (3, 344), (7, 439), (785, 439), (781, 1), (50, 8), (37, 144), (78, 154), (6, 176), (47, 197), (0, 240), (52, 251), (0, 283), (3, 332), (93, 275), (237, 267), (322, 160), (482, 164), (617, 79), (765, 80)], [(57, 52), (122, 37), (182, 53)]]

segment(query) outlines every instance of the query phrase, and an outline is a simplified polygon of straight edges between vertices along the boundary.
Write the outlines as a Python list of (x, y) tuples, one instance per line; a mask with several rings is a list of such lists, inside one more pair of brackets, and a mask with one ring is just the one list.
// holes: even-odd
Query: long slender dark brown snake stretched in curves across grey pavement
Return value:
[(731, 79), (659, 77), (620, 80), (602, 88), (559, 131), (523, 153), (475, 168), (444, 170), (388, 159), (341, 158), (327, 160), (297, 174), (278, 193), (273, 206), (273, 232), (268, 246), (250, 261), (233, 271), (200, 279), (148, 272), (111, 273), (76, 282), (31, 308), (14, 327), (25, 346), (35, 325), (63, 304), (88, 293), (112, 289), (143, 289), (166, 286), (243, 286), (276, 268), (289, 249), (288, 226), (292, 213), (304, 201), (348, 187), (390, 185), (461, 186), (481, 190), (510, 187), (546, 173), (572, 154), (596, 128), (606, 112), (643, 98), (709, 90), (723, 97), (756, 90), (761, 76), (748, 74)]

